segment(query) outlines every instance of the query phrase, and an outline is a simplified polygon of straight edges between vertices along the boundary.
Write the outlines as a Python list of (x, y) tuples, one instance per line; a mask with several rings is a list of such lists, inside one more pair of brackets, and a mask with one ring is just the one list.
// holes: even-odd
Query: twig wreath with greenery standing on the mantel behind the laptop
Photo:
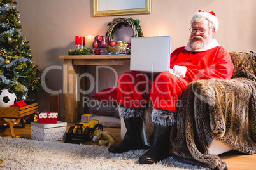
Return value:
[(143, 32), (141, 26), (139, 25), (139, 20), (134, 20), (132, 18), (115, 18), (113, 22), (108, 23), (109, 29), (106, 32), (108, 41), (113, 39), (113, 33), (115, 30), (120, 29), (122, 26), (129, 26), (133, 30), (133, 37), (143, 37)]

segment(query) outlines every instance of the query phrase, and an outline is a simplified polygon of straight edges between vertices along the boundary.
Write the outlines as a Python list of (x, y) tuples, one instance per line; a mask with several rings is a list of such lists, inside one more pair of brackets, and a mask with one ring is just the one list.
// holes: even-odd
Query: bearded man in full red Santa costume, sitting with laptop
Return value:
[(197, 79), (230, 79), (233, 63), (228, 51), (218, 44), (218, 19), (213, 12), (199, 10), (192, 17), (187, 46), (171, 53), (169, 72), (155, 79), (138, 72), (125, 72), (118, 79), (119, 114), (127, 132), (124, 140), (110, 147), (113, 153), (143, 148), (141, 140), (143, 108), (152, 103), (153, 146), (141, 157), (141, 164), (153, 164), (169, 156), (169, 135), (176, 121), (177, 106), (187, 85)]

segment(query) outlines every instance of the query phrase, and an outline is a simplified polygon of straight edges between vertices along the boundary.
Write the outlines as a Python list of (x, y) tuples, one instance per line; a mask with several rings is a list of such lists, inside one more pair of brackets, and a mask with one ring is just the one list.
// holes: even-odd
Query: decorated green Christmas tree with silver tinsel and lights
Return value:
[(15, 1), (0, 0), (0, 89), (10, 89), (17, 100), (26, 100), (41, 88), (39, 70), (32, 62), (31, 49), (22, 34)]

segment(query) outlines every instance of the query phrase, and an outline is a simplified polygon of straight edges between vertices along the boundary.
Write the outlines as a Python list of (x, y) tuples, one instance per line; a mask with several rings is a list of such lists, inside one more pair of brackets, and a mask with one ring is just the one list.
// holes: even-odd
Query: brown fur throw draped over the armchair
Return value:
[[(231, 51), (231, 80), (191, 82), (183, 93), (177, 120), (171, 129), (170, 153), (211, 169), (228, 169), (208, 148), (215, 139), (245, 154), (256, 152), (256, 53)], [(143, 125), (153, 141), (152, 107), (145, 108)], [(189, 161), (188, 161), (189, 162)]]

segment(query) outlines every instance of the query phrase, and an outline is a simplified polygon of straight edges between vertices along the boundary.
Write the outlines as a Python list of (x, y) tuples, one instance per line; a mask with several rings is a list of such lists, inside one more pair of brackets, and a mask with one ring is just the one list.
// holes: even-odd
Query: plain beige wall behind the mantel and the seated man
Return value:
[[(144, 36), (172, 37), (171, 51), (185, 46), (190, 35), (190, 19), (197, 10), (214, 11), (220, 22), (216, 38), (227, 50), (256, 51), (255, 0), (152, 0), (152, 13), (126, 16), (92, 16), (92, 0), (17, 0), (23, 36), (30, 41), (36, 65), (43, 72), (52, 65), (62, 66), (59, 55), (68, 55), (75, 48), (76, 35), (104, 35), (113, 18), (139, 19)], [(93, 68), (92, 68), (93, 69)], [(122, 74), (129, 67), (115, 67)], [(48, 88), (62, 90), (62, 70), (47, 75)], [(99, 90), (111, 88), (115, 79), (111, 73), (100, 74)], [(40, 111), (49, 110), (49, 94), (38, 98)], [(61, 95), (62, 120), (64, 96)]]

